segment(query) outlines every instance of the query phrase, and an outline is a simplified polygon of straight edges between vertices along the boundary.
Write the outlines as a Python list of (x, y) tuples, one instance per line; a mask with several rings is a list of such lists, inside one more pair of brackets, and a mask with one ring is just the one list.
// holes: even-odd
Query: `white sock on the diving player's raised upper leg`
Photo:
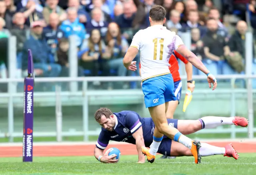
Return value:
[(202, 129), (216, 128), (222, 125), (233, 125), (232, 120), (234, 117), (215, 117), (207, 116), (198, 119), (202, 124)]

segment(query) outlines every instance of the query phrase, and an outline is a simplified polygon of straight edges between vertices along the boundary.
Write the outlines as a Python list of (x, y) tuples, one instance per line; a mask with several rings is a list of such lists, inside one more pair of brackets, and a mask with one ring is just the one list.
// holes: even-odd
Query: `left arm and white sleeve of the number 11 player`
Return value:
[(123, 64), (124, 67), (126, 67), (126, 69), (130, 70), (130, 71), (136, 71), (136, 61), (132, 61), (134, 60), (134, 58), (136, 57), (136, 55), (138, 54), (138, 51), (140, 50), (140, 35), (139, 35), (140, 31), (138, 31), (133, 39), (132, 39), (132, 43), (130, 45), (130, 47), (128, 48), (126, 54), (124, 55), (124, 60), (123, 60)]

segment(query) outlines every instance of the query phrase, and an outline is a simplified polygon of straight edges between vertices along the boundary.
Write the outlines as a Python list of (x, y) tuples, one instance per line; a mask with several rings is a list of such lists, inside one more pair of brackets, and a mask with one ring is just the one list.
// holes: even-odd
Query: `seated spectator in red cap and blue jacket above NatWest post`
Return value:
[(25, 41), (22, 65), (23, 70), (28, 66), (28, 49), (31, 49), (35, 74), (42, 77), (58, 77), (60, 75), (61, 66), (54, 63), (54, 59), (50, 58), (51, 49), (42, 38), (43, 23), (41, 21), (33, 22), (31, 25), (30, 37)]

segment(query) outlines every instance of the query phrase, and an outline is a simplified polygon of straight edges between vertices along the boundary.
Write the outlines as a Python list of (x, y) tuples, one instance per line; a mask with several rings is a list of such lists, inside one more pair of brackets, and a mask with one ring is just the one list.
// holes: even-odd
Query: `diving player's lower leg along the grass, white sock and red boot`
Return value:
[[(168, 145), (168, 142), (164, 142), (164, 145)], [(166, 149), (165, 151), (168, 151)], [(234, 159), (238, 159), (239, 155), (237, 151), (234, 149), (234, 147), (231, 144), (226, 145), (225, 147), (217, 147), (212, 146), (207, 143), (201, 143), (201, 148), (199, 150), (200, 155), (204, 156), (210, 156), (210, 155), (224, 155), (227, 157), (234, 157)], [(168, 154), (167, 154), (168, 155)], [(170, 149), (170, 155), (171, 156), (192, 156), (192, 153), (190, 149), (185, 147), (184, 145), (178, 143), (178, 142), (171, 142), (171, 149)]]

